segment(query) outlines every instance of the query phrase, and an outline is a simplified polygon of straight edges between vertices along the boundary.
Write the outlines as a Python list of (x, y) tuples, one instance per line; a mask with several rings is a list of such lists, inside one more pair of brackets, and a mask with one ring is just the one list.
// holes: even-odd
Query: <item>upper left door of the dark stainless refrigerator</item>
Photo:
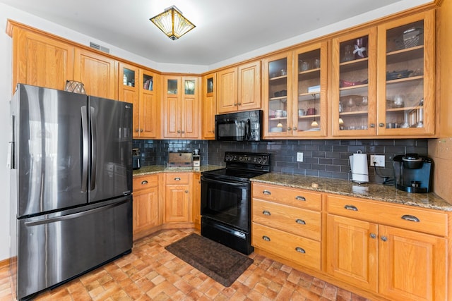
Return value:
[(86, 106), (83, 94), (18, 85), (11, 101), (17, 216), (87, 203), (88, 164), (82, 165), (88, 163), (89, 145), (81, 143)]

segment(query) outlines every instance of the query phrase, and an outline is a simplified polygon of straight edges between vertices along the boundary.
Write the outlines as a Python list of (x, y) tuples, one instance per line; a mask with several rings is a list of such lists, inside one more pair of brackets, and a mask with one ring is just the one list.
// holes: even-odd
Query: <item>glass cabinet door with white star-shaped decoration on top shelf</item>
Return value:
[(334, 136), (376, 135), (376, 27), (333, 39)]

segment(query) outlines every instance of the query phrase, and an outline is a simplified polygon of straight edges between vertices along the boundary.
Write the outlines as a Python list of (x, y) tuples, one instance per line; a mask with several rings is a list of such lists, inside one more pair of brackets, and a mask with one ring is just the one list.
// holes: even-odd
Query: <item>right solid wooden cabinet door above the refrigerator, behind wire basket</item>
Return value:
[(74, 49), (74, 80), (83, 82), (86, 94), (117, 99), (117, 61), (93, 51)]

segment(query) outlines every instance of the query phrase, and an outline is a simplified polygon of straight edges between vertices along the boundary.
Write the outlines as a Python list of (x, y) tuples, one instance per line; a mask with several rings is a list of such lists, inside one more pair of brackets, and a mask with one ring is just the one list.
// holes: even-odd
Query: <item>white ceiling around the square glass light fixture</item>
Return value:
[[(209, 66), (408, 0), (0, 0), (158, 63)], [(149, 18), (175, 5), (196, 25), (172, 41)]]

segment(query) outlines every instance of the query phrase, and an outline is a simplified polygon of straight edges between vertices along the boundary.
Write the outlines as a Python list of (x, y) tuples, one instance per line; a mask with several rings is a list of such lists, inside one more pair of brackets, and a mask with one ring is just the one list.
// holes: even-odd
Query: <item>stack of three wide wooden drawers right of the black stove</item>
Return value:
[(321, 194), (253, 183), (251, 244), (321, 270)]

